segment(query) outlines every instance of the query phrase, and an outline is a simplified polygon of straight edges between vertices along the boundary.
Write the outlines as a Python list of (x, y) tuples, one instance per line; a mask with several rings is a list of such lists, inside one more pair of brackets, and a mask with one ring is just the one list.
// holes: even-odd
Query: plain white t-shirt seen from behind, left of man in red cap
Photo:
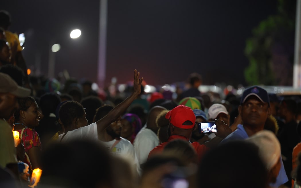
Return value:
[(141, 165), (146, 162), (150, 151), (159, 145), (159, 138), (154, 131), (144, 126), (136, 135), (133, 145), (138, 162)]

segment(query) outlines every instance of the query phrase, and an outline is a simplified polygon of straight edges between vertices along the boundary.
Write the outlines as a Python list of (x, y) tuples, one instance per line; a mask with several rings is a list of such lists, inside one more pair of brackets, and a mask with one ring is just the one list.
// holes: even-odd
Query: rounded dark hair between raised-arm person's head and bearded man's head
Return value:
[(88, 124), (93, 123), (93, 118), (96, 112), (96, 109), (102, 106), (103, 102), (99, 97), (96, 96), (89, 96), (85, 97), (82, 99), (80, 102), (84, 108), (86, 108), (86, 113), (87, 116), (86, 118), (88, 119)]

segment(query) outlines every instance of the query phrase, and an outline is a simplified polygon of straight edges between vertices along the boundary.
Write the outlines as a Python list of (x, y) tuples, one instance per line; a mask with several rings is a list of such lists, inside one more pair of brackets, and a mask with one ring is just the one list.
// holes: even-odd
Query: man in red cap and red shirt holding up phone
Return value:
[[(170, 136), (167, 142), (163, 142), (159, 146), (151, 150), (151, 152), (148, 155), (148, 158), (150, 158), (150, 156), (154, 155), (155, 153), (160, 153), (163, 150), (164, 146), (171, 140), (184, 139), (190, 142), (192, 131), (194, 129), (194, 126), (196, 125), (196, 117), (190, 107), (179, 105), (171, 111), (169, 111), (166, 114), (165, 118), (169, 120)], [(216, 126), (217, 129), (221, 130), (217, 134), (217, 136), (219, 137), (225, 138), (228, 134), (232, 132), (231, 128), (228, 125), (223, 124), (221, 120), (216, 120)], [(193, 142), (191, 144), (196, 150), (200, 159), (203, 153), (207, 150), (207, 147), (205, 145), (200, 145), (198, 142)]]

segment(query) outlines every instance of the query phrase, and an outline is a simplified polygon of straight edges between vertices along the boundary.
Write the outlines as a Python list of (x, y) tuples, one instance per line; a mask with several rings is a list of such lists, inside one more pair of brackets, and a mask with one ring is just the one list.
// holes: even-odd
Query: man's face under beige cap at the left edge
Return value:
[(8, 120), (18, 108), (16, 96), (10, 93), (0, 94), (0, 118)]

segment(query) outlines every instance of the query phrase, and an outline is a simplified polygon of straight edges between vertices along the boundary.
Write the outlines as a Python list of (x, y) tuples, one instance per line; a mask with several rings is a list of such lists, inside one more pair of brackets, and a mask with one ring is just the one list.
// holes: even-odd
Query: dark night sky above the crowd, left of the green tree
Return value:
[[(1, 1), (11, 13), (12, 32), (25, 32), (28, 67), (41, 64), (47, 75), (50, 41), (56, 52), (56, 74), (96, 81), (99, 1)], [(188, 1), (109, 0), (107, 79), (132, 80), (133, 69), (151, 85), (185, 81), (191, 72), (204, 84), (245, 84), (245, 42), (252, 29), (276, 14), (274, 0)], [(70, 39), (72, 29), (81, 29)]]

